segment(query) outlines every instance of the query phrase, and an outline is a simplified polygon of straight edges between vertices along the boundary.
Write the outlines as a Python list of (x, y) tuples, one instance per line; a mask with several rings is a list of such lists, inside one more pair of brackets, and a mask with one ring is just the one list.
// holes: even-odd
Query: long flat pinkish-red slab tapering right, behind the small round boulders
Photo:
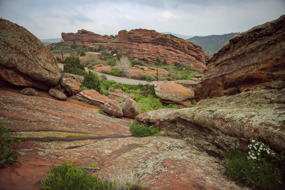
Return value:
[(119, 104), (118, 101), (109, 99), (95, 90), (83, 90), (80, 93), (77, 93), (75, 96), (79, 101), (83, 101), (87, 104), (92, 104), (96, 106), (100, 106), (101, 104), (105, 104), (107, 102)]

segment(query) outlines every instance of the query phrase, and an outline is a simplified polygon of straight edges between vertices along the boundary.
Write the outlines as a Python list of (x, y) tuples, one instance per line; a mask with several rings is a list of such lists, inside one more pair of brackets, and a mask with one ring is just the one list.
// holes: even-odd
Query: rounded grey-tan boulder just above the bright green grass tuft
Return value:
[(135, 118), (137, 115), (142, 113), (142, 109), (139, 104), (132, 99), (125, 100), (120, 103), (119, 106), (122, 108), (124, 116), (129, 118)]

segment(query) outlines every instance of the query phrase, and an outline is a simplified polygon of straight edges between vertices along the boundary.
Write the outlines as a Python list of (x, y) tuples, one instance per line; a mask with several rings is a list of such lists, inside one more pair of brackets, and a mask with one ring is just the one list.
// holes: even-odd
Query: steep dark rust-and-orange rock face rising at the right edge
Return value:
[(232, 37), (207, 61), (197, 101), (285, 87), (285, 15)]

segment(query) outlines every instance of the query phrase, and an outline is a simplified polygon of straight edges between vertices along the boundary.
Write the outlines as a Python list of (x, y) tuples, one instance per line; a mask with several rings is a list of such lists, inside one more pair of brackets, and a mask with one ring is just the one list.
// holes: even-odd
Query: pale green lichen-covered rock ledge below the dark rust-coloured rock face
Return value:
[[(154, 124), (169, 135), (189, 140), (200, 138), (203, 146), (210, 142), (225, 150), (247, 150), (249, 139), (253, 138), (282, 151), (285, 150), (285, 89), (262, 89), (201, 100), (193, 108), (142, 113), (136, 121)], [(217, 147), (209, 144), (209, 149), (219, 152)]]

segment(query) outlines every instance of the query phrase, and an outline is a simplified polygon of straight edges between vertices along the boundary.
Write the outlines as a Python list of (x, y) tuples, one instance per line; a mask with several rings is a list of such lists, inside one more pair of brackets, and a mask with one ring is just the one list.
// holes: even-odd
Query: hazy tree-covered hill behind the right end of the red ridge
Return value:
[(195, 44), (202, 46), (206, 54), (213, 55), (218, 51), (227, 41), (229, 41), (233, 36), (239, 33), (229, 33), (222, 35), (211, 35), (211, 36), (194, 36), (192, 38), (186, 39), (187, 41), (194, 42)]

